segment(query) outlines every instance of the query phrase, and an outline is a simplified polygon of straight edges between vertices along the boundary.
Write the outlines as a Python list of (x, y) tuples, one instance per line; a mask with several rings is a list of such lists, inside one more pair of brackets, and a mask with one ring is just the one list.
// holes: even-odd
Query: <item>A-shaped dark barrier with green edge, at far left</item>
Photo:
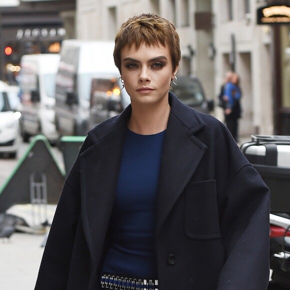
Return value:
[(64, 182), (64, 172), (53, 155), (48, 140), (43, 135), (35, 136), (14, 170), (0, 188), (0, 212), (13, 204), (31, 203), (31, 177), (39, 181), (45, 175), (47, 203), (56, 204)]

